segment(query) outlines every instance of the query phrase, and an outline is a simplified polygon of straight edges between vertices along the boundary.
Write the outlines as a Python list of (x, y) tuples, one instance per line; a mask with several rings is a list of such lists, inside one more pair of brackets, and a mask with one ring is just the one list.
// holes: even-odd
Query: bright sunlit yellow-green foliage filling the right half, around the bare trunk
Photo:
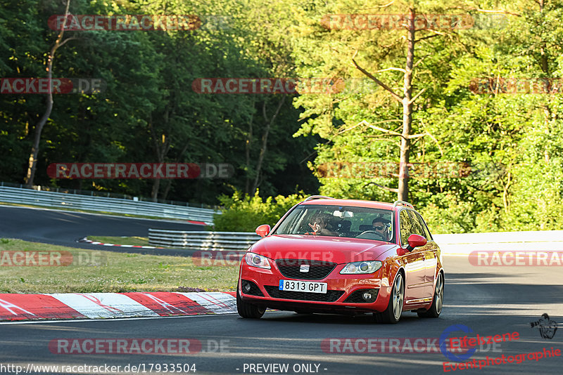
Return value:
[[(301, 6), (299, 33), (292, 39), (298, 74), (305, 77), (361, 78), (351, 63), (372, 72), (396, 92), (402, 90), (405, 30), (347, 30), (320, 26), (324, 14), (369, 13), (369, 1), (315, 1)], [(434, 232), (492, 232), (560, 229), (563, 225), (560, 147), (561, 93), (475, 93), (479, 78), (562, 77), (563, 28), (561, 1), (545, 6), (534, 1), (394, 1), (381, 13), (445, 14), (463, 9), (476, 20), (505, 13), (503, 25), (440, 30), (421, 29), (415, 45), (410, 162), (450, 162), (472, 166), (460, 178), (411, 178), (410, 201), (424, 213)], [(380, 12), (375, 12), (380, 13)], [(484, 21), (483, 21), (484, 22)], [(367, 79), (364, 77), (364, 79)], [(560, 84), (558, 84), (560, 86)], [(343, 198), (393, 202), (397, 178), (326, 178), (317, 170), (325, 163), (398, 162), (399, 140), (384, 133), (399, 131), (402, 107), (379, 86), (353, 93), (302, 95), (294, 104), (304, 108), (303, 125), (295, 136), (319, 134), (310, 169), (319, 178), (320, 192)], [(374, 124), (381, 129), (375, 129)]]

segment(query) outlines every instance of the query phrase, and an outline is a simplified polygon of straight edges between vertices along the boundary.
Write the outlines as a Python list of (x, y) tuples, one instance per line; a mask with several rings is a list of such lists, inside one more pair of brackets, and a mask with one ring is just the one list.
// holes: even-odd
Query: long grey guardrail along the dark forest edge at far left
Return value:
[(130, 199), (89, 197), (72, 195), (63, 192), (37, 191), (19, 187), (0, 186), (0, 202), (16, 204), (32, 204), (34, 206), (55, 207), (60, 209), (80, 209), (86, 211), (125, 213), (139, 216), (155, 216), (158, 218), (175, 218), (189, 221), (200, 221), (213, 225), (212, 209), (177, 206), (155, 202), (141, 202)]

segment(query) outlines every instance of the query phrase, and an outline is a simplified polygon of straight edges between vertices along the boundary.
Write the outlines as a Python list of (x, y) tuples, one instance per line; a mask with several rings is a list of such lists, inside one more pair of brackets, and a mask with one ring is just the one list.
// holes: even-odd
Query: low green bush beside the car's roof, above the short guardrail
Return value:
[(215, 228), (220, 232), (254, 232), (258, 225), (269, 224), (273, 227), (281, 216), (291, 207), (305, 199), (303, 192), (284, 197), (260, 198), (255, 195), (243, 195), (235, 191), (232, 197), (221, 195), (219, 200), (224, 206), (222, 213), (213, 217)]

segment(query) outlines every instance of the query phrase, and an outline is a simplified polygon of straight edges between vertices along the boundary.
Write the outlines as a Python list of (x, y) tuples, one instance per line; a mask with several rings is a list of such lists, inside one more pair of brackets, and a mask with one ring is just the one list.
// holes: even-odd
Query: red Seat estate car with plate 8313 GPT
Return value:
[(441, 313), (440, 248), (412, 204), (312, 196), (256, 232), (239, 270), (241, 317), (274, 308), (397, 323), (403, 310)]

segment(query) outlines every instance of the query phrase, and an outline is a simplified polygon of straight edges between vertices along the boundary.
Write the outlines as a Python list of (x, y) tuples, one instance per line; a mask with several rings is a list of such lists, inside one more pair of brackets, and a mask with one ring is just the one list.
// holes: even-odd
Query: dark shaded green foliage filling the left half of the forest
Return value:
[[(44, 77), (45, 56), (57, 35), (46, 20), (61, 14), (64, 2), (0, 4), (0, 77)], [(75, 39), (58, 49), (54, 77), (102, 78), (107, 87), (96, 95), (54, 96), (34, 183), (206, 204), (217, 204), (230, 186), (248, 190), (248, 181), (257, 176), (262, 195), (315, 191), (318, 183), (307, 173), (306, 159), (317, 140), (291, 137), (299, 129), (291, 99), (272, 125), (257, 171), (262, 112), (271, 116), (279, 98), (199, 94), (191, 88), (203, 77), (291, 74), (288, 48), (281, 48), (283, 30), (275, 15), (261, 11), (267, 6), (257, 0), (72, 0), (72, 14), (196, 14), (208, 24), (193, 31), (65, 32), (65, 38)], [(225, 25), (218, 21), (222, 18)], [(0, 96), (0, 180), (23, 182), (44, 108), (42, 95)], [(51, 180), (46, 169), (53, 162), (229, 163), (235, 175), (229, 180)], [(281, 173), (286, 170), (291, 178)]]

